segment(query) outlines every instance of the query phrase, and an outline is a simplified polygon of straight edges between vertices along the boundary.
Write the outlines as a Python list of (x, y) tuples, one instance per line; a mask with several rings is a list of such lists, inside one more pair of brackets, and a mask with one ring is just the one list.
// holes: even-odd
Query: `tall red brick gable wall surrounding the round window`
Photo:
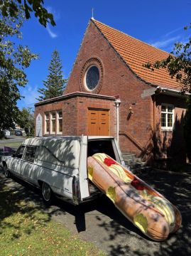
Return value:
[[(151, 139), (148, 132), (151, 129), (151, 97), (141, 99), (141, 93), (149, 86), (136, 78), (91, 21), (67, 83), (65, 95), (82, 90), (80, 87), (82, 69), (87, 60), (93, 57), (100, 60), (103, 68), (102, 87), (98, 93), (99, 95), (119, 95), (121, 100), (119, 129), (133, 137), (132, 142), (129, 137), (121, 134), (119, 137), (121, 149), (141, 155), (137, 142), (142, 146), (148, 146)], [(133, 109), (131, 116), (129, 107)]]

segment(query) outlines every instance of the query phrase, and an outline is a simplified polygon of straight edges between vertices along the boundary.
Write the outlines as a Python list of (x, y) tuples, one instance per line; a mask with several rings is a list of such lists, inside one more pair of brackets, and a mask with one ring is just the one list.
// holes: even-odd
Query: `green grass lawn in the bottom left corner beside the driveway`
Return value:
[(104, 255), (0, 181), (0, 255)]

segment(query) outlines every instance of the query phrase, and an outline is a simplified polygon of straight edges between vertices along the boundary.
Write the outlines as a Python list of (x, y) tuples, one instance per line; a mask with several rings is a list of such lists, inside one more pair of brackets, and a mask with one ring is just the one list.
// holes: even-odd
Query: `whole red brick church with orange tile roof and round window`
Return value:
[(144, 63), (168, 53), (90, 19), (60, 97), (36, 103), (36, 136), (106, 135), (148, 163), (185, 161), (180, 85)]

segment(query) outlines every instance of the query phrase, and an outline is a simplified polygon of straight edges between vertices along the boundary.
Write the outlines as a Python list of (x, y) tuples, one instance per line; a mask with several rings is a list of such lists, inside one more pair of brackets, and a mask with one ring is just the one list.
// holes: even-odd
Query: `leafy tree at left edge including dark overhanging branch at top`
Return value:
[(38, 58), (38, 55), (31, 53), (27, 46), (16, 43), (15, 39), (17, 38), (18, 41), (22, 38), (21, 26), (26, 18), (30, 18), (30, 16), (27, 16), (28, 11), (34, 11), (40, 23), (45, 26), (50, 16), (46, 15), (42, 4), (43, 1), (40, 0), (0, 0), (1, 134), (4, 129), (14, 128), (14, 123), (18, 121), (19, 110), (16, 103), (21, 99), (18, 88), (26, 85), (28, 80), (25, 69), (30, 66), (31, 60)]

